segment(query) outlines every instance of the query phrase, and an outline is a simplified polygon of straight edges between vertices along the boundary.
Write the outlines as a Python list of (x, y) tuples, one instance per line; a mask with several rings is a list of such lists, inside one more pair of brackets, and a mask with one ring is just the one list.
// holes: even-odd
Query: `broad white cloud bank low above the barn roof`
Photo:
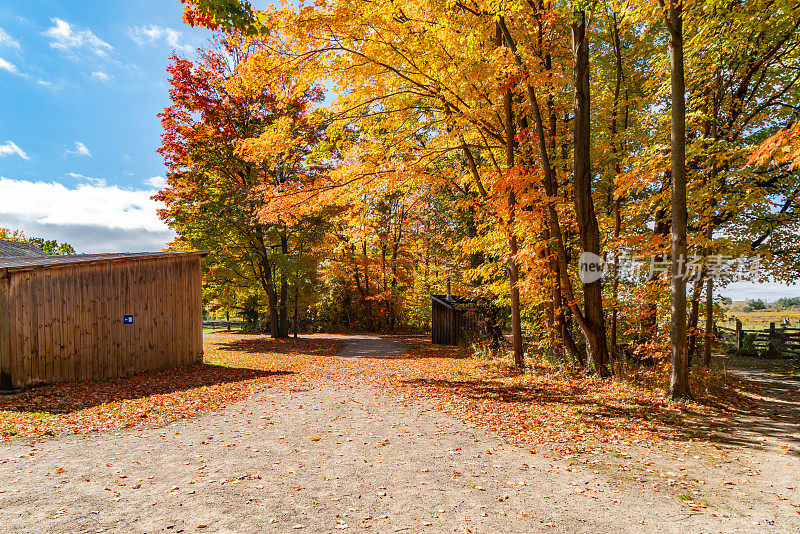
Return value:
[(67, 187), (0, 177), (0, 226), (72, 243), (80, 252), (160, 250), (174, 238), (151, 190)]

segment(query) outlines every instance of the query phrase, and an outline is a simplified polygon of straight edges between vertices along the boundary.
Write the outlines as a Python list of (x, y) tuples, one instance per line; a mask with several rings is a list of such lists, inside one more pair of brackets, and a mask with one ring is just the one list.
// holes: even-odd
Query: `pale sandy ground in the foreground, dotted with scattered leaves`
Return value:
[[(402, 350), (383, 348), (342, 355)], [(722, 508), (691, 511), (366, 386), (308, 383), (158, 429), (0, 444), (8, 532), (800, 532), (800, 515)]]

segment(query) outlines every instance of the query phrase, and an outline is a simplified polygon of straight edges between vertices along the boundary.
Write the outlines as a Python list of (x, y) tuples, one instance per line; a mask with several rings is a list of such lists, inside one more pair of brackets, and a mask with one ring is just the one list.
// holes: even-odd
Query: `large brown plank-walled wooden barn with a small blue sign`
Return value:
[(199, 361), (203, 255), (0, 257), (0, 389)]

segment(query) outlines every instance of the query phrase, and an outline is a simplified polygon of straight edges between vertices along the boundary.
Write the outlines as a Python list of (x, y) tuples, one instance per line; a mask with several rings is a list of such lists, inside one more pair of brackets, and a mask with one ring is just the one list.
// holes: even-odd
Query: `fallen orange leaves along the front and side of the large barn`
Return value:
[(341, 343), (207, 335), (202, 365), (126, 378), (42, 386), (0, 397), (0, 437), (162, 425), (298, 377)]

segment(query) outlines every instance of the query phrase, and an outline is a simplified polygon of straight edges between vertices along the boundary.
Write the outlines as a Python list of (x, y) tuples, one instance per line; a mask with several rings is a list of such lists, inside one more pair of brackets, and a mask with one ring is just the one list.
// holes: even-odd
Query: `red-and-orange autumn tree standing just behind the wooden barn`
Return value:
[(251, 89), (247, 59), (264, 48), (229, 36), (196, 63), (173, 56), (173, 103), (159, 115), (168, 187), (155, 198), (167, 206), (160, 214), (178, 234), (176, 246), (208, 249), (212, 278), (257, 284), (272, 336), (285, 337), (290, 248), (301, 239), (299, 227), (313, 223), (284, 211), (284, 199), (320, 170), (309, 156), (321, 135), (311, 118), (321, 92), (277, 71), (272, 83)]

